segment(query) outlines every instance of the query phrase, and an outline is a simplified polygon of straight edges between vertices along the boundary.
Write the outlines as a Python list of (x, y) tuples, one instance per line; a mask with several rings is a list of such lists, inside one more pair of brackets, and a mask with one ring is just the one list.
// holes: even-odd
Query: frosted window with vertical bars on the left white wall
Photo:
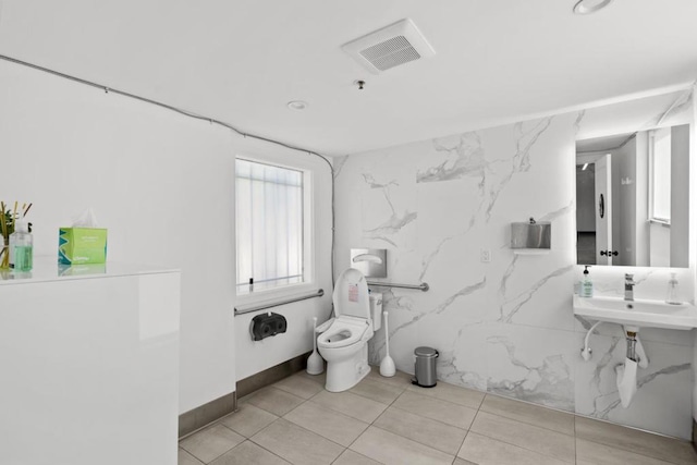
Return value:
[(305, 281), (305, 173), (237, 158), (237, 294)]

